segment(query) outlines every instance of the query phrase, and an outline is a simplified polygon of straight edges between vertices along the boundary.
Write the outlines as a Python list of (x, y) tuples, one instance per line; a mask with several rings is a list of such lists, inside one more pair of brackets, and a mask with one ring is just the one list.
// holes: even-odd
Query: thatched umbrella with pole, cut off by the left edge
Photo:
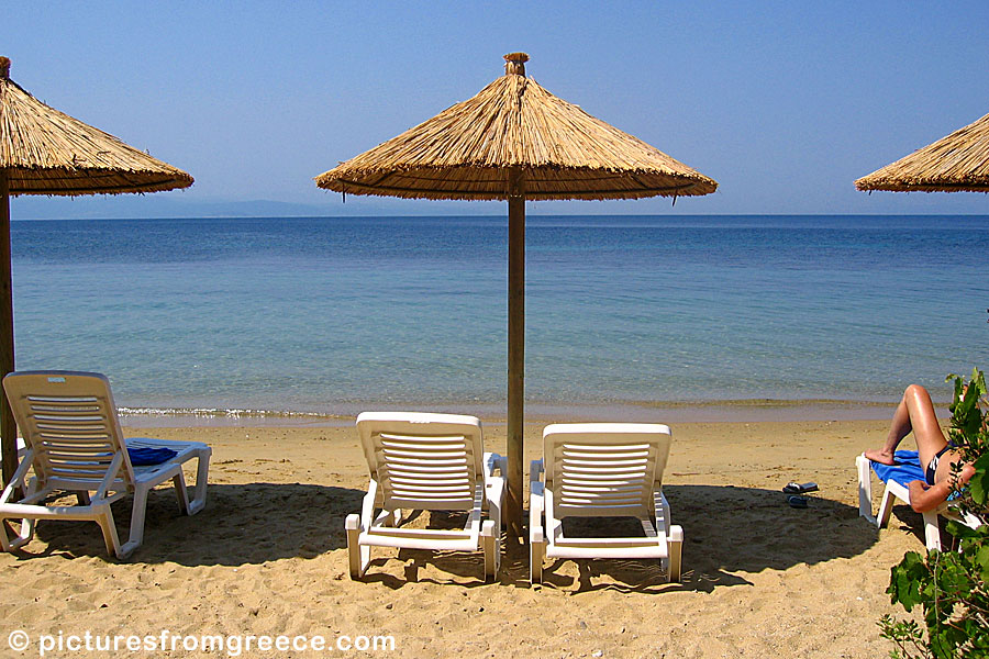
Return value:
[[(49, 108), (10, 79), (0, 57), (0, 378), (14, 369), (10, 276), (10, 198), (18, 194), (119, 194), (188, 188), (192, 177)], [(16, 468), (16, 429), (0, 395), (2, 470)]]

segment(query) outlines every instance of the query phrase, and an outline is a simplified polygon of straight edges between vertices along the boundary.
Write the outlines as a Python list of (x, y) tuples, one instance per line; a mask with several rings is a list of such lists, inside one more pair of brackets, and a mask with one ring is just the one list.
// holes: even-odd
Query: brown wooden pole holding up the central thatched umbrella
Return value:
[(522, 172), (509, 179), (508, 505), (509, 534), (522, 537), (522, 432), (525, 399), (525, 197)]

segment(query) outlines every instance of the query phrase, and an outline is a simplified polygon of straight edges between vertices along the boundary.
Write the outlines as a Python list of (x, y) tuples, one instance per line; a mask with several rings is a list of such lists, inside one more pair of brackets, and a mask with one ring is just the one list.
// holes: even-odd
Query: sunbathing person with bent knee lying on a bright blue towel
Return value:
[(886, 444), (880, 449), (865, 451), (865, 457), (874, 462), (892, 465), (893, 451), (910, 431), (916, 439), (916, 451), (926, 480), (910, 483), (910, 506), (918, 513), (925, 513), (945, 502), (956, 487), (967, 483), (975, 474), (975, 467), (963, 463), (958, 482), (952, 482), (952, 465), (960, 462), (962, 456), (944, 438), (931, 395), (919, 384), (911, 384), (903, 392)]

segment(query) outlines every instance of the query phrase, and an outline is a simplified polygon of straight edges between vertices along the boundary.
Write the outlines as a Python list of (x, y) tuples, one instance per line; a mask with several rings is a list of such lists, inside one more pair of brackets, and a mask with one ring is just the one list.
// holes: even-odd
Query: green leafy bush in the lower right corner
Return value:
[[(951, 405), (951, 442), (976, 473), (966, 487), (956, 483), (953, 506), (962, 513), (989, 521), (989, 413), (986, 409), (986, 378), (978, 369), (966, 383), (954, 380)], [(957, 477), (960, 467), (954, 470)], [(949, 522), (948, 532), (958, 538), (957, 551), (908, 552), (892, 568), (889, 589), (893, 603), (907, 611), (920, 605), (926, 637), (914, 622), (885, 616), (880, 634), (897, 645), (894, 659), (955, 659), (989, 657), (989, 525), (977, 529)]]

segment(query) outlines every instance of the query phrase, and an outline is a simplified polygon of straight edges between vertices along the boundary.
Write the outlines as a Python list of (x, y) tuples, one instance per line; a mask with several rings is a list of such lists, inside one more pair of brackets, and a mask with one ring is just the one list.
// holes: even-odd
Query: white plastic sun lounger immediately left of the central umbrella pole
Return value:
[[(364, 412), (357, 416), (357, 432), (370, 483), (360, 515), (347, 515), (345, 522), (351, 578), (364, 576), (373, 546), (482, 549), (485, 577), (496, 578), (501, 566), (507, 465), (501, 456), (484, 453), (480, 420), (454, 414)], [(403, 528), (402, 509), (463, 511), (468, 514), (467, 523), (463, 530)], [(482, 521), (485, 509), (489, 518)]]

